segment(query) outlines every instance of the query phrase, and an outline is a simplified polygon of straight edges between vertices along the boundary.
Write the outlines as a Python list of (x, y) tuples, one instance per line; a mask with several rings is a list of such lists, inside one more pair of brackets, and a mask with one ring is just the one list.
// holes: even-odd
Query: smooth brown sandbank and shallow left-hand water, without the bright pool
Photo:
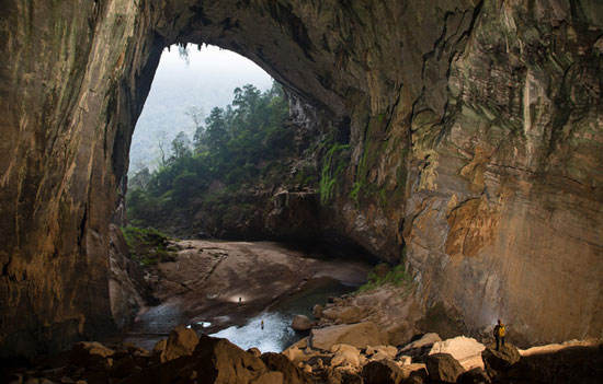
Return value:
[(147, 269), (159, 305), (140, 310), (126, 341), (151, 348), (179, 324), (211, 323), (206, 334), (240, 326), (310, 281), (328, 277), (361, 284), (369, 269), (353, 255), (341, 263), (273, 242), (187, 240), (172, 246), (178, 248), (172, 260)]

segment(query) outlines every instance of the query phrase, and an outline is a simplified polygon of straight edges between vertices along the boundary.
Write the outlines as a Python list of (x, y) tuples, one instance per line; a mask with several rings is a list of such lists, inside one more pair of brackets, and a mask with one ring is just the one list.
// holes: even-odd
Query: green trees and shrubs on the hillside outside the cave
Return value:
[[(296, 147), (287, 116), (277, 83), (263, 93), (250, 84), (237, 88), (230, 105), (213, 108), (205, 124), (195, 119), (192, 141), (179, 133), (162, 166), (132, 177), (130, 223), (164, 229), (174, 217), (191, 219), (201, 206), (220, 210), (220, 220), (249, 212), (253, 206), (234, 196), (246, 186), (276, 185), (289, 171), (282, 160)], [(302, 171), (296, 175), (299, 182), (316, 183), (311, 170)]]

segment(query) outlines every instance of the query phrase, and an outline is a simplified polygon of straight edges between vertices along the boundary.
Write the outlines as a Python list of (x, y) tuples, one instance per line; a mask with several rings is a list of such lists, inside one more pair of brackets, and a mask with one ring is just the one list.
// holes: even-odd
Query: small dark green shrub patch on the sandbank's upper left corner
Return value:
[(151, 266), (157, 263), (172, 261), (173, 247), (169, 246), (170, 238), (152, 229), (136, 226), (122, 228), (128, 246), (129, 258), (141, 266)]

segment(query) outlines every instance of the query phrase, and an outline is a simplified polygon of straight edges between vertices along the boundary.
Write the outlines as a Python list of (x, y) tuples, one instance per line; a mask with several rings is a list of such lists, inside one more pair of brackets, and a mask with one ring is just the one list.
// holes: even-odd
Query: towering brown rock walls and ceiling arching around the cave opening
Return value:
[(532, 341), (602, 336), (598, 1), (0, 11), (0, 354), (114, 327), (110, 222), (159, 55), (178, 42), (249, 57), (348, 127), (337, 156), (350, 166), (325, 173), (337, 183), (322, 228), (403, 256), (425, 306), (443, 302), (468, 327), (499, 316)]

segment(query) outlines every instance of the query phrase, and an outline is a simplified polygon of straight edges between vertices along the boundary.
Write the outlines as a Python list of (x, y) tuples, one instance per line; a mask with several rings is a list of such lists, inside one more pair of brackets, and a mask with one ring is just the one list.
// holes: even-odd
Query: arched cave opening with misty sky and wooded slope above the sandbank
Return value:
[[(198, 47), (160, 60), (129, 151), (129, 223), (184, 238), (316, 234), (320, 172), (305, 152), (322, 138), (289, 117), (288, 95), (260, 67)], [(277, 189), (295, 191), (296, 222), (278, 218), (287, 201), (265, 213)]]

